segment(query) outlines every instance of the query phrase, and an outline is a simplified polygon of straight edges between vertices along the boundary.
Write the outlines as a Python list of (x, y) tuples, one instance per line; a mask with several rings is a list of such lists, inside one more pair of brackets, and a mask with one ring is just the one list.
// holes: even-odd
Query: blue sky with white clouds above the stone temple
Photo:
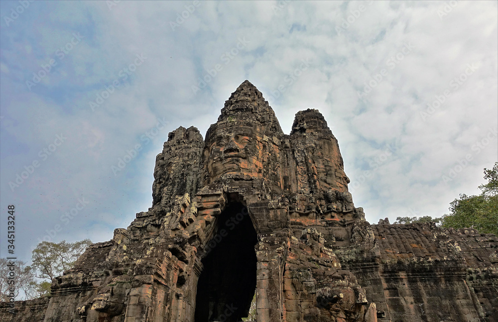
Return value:
[(0, 1), (0, 256), (102, 242), (151, 207), (168, 133), (249, 80), (316, 108), (356, 207), (442, 216), (498, 161), (497, 1)]

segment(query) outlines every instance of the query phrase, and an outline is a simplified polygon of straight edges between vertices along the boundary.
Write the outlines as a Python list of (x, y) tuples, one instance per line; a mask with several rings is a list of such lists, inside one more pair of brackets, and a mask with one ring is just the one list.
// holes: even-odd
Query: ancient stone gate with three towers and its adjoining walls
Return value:
[(498, 238), (434, 224), (371, 225), (315, 109), (282, 132), (245, 81), (203, 140), (169, 133), (153, 204), (17, 303), (15, 322), (498, 321)]

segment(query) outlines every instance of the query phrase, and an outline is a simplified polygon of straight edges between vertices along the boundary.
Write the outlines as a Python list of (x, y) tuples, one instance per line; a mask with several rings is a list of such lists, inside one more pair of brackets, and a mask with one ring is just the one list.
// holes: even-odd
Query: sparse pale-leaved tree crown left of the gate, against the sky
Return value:
[(40, 242), (31, 256), (33, 268), (37, 272), (36, 277), (53, 281), (55, 277), (72, 268), (78, 257), (91, 243), (90, 239), (74, 243), (69, 243), (65, 240), (59, 243)]

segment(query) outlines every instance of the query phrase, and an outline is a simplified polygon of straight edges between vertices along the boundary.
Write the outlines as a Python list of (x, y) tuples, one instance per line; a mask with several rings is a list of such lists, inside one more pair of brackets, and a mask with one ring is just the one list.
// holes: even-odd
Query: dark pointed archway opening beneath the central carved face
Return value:
[(256, 243), (247, 208), (241, 203), (228, 205), (202, 259), (195, 322), (237, 322), (248, 316), (256, 289)]

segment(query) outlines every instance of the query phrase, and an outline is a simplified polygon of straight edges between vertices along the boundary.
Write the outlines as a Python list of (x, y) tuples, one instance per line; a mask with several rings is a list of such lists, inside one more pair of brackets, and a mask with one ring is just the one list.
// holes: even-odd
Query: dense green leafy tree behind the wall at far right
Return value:
[(475, 228), (498, 235), (498, 162), (493, 169), (484, 169), (484, 179), (489, 182), (479, 186), (481, 195), (462, 194), (451, 202), (450, 214), (443, 216), (443, 227)]

